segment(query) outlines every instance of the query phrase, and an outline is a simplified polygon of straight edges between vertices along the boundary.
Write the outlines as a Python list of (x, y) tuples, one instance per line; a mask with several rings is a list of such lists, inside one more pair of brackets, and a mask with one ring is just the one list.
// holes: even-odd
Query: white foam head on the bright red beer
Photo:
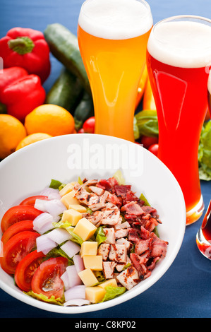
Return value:
[(211, 64), (210, 25), (191, 20), (163, 20), (152, 29), (147, 44), (155, 59), (181, 68)]

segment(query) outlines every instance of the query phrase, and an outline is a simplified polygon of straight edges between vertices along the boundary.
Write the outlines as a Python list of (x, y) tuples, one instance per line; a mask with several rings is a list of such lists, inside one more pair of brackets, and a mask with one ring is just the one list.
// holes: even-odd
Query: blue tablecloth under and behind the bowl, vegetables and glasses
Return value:
[[(83, 0), (1, 0), (0, 37), (13, 27), (44, 31), (48, 24), (61, 23), (76, 34)], [(211, 18), (210, 0), (149, 0), (154, 22), (179, 14)], [(51, 57), (52, 73), (44, 83), (51, 88), (61, 64)], [(201, 182), (205, 208), (211, 198), (211, 182)], [(211, 263), (200, 254), (195, 235), (203, 217), (186, 227), (183, 244), (167, 273), (149, 290), (126, 303), (103, 311), (63, 315), (45, 312), (20, 302), (0, 290), (1, 318), (205, 318), (211, 317)]]

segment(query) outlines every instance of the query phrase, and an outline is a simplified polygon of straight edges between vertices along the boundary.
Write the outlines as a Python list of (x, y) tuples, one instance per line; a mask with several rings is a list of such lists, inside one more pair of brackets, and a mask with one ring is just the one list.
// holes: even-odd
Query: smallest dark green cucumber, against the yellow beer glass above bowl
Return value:
[(83, 97), (75, 109), (74, 120), (76, 130), (83, 126), (83, 122), (94, 116), (93, 100), (89, 93), (84, 91)]

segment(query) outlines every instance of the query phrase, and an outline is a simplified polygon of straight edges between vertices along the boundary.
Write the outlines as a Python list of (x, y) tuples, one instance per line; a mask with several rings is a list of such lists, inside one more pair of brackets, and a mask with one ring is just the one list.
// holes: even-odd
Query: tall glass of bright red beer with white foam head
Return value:
[(198, 145), (207, 111), (210, 63), (211, 20), (175, 16), (152, 28), (147, 69), (157, 107), (158, 157), (181, 186), (187, 225), (198, 220), (204, 209)]

